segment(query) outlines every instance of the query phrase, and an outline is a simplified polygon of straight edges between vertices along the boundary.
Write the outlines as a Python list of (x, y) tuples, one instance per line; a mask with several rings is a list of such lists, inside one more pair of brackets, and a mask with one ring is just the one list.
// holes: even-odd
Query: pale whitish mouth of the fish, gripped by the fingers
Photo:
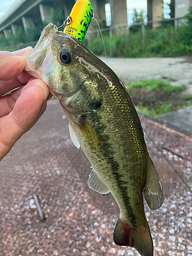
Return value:
[(51, 41), (53, 36), (58, 33), (57, 27), (50, 23), (48, 24), (41, 33), (37, 44), (35, 45), (33, 51), (31, 52), (30, 56), (27, 59), (27, 65), (25, 70), (30, 75), (40, 78), (39, 72), (37, 72), (44, 62), (48, 51), (51, 48)]

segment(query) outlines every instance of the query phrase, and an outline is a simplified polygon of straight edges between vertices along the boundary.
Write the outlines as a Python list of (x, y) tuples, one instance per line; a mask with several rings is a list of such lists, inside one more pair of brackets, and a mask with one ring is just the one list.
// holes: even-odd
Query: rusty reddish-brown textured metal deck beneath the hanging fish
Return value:
[[(192, 256), (192, 139), (145, 117), (141, 122), (165, 196), (156, 211), (145, 205), (154, 255)], [(50, 101), (44, 116), (0, 163), (0, 255), (136, 255), (134, 249), (114, 244), (119, 209), (111, 194), (88, 187), (90, 170), (69, 137), (59, 103)], [(39, 219), (34, 194), (45, 222)]]

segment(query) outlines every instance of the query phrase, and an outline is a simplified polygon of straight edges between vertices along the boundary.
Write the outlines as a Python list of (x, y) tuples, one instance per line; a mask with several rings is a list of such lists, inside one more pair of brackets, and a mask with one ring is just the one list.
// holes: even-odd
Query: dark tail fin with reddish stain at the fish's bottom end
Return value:
[(119, 218), (114, 231), (114, 242), (119, 246), (134, 247), (142, 256), (153, 256), (153, 241), (147, 221), (146, 226), (134, 227)]

